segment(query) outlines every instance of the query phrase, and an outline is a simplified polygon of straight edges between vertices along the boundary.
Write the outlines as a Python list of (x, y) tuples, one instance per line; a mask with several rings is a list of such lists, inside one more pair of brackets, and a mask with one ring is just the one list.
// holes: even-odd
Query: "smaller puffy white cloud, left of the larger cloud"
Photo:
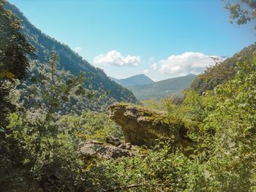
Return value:
[(113, 66), (138, 66), (140, 56), (127, 55), (124, 57), (116, 50), (94, 57), (94, 64), (108, 64)]

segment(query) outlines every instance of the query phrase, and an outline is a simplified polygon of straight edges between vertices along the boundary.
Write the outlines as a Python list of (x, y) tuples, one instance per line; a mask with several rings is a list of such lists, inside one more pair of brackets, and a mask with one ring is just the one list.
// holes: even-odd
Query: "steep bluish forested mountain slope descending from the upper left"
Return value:
[(9, 2), (7, 2), (5, 7), (14, 12), (18, 18), (23, 21), (22, 32), (25, 37), (29, 39), (29, 42), (36, 48), (37, 59), (41, 63), (47, 62), (54, 50), (59, 55), (61, 67), (65, 70), (69, 70), (72, 74), (78, 74), (80, 71), (86, 72), (86, 88), (90, 87), (94, 91), (97, 91), (97, 93), (109, 92), (103, 104), (108, 105), (115, 101), (126, 101), (132, 103), (138, 102), (131, 91), (122, 87), (118, 83), (113, 82), (113, 80), (110, 80), (102, 69), (95, 68), (89, 64), (88, 61), (84, 60), (80, 55), (78, 55), (78, 53), (75, 53), (67, 45), (43, 34), (42, 31), (29, 22), (17, 7)]

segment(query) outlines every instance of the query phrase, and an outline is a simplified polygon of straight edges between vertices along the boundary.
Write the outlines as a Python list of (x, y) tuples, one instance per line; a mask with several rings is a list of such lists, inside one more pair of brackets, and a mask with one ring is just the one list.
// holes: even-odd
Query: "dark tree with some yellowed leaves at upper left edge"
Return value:
[(21, 33), (21, 21), (10, 11), (4, 9), (0, 0), (0, 128), (7, 126), (6, 115), (14, 110), (10, 99), (10, 84), (7, 80), (22, 79), (26, 76), (29, 56), (34, 47)]

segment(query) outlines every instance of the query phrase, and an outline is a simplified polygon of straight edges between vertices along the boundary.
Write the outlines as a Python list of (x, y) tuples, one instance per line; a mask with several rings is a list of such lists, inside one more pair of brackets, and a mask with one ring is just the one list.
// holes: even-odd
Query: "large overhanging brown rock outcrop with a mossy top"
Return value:
[(132, 145), (151, 147), (159, 139), (167, 137), (172, 138), (174, 144), (184, 147), (191, 143), (186, 137), (184, 123), (168, 119), (165, 112), (127, 104), (113, 104), (109, 107), (109, 113), (110, 118), (121, 126), (125, 141)]

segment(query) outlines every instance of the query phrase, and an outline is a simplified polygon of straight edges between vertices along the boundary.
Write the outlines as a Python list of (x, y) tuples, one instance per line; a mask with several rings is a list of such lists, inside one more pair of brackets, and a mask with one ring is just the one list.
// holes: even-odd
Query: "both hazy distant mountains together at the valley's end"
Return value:
[(122, 80), (112, 79), (131, 90), (137, 99), (143, 101), (146, 99), (161, 99), (168, 95), (181, 96), (182, 91), (189, 88), (195, 77), (197, 75), (188, 74), (184, 77), (154, 82), (145, 74), (138, 74)]

